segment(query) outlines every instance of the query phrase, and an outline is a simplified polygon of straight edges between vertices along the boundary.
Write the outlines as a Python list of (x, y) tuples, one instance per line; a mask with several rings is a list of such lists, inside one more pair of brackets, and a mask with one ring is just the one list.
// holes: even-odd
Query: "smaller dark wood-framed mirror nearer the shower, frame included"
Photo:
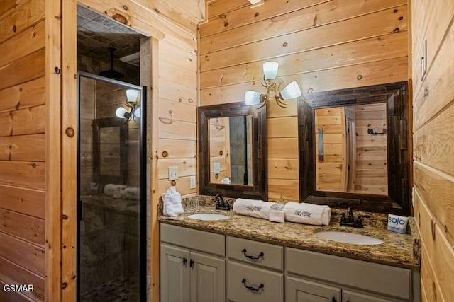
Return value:
[(198, 108), (199, 194), (267, 198), (266, 107)]

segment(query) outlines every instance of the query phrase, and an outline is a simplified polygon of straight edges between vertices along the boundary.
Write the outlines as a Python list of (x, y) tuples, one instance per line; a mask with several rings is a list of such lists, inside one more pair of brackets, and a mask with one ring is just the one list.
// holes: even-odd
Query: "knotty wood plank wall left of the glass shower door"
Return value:
[(44, 300), (45, 289), (45, 6), (0, 5), (0, 284), (34, 292), (1, 301)]

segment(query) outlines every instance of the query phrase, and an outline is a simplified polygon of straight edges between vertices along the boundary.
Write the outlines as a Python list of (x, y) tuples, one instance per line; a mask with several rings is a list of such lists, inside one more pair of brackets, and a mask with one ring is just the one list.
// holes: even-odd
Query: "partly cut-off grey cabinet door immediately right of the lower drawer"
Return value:
[(341, 289), (314, 281), (285, 277), (286, 302), (341, 302)]

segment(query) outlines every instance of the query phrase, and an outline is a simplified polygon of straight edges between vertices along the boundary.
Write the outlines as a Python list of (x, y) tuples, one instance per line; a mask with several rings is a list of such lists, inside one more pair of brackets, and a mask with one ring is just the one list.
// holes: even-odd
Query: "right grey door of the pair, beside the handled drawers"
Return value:
[(226, 260), (191, 252), (191, 302), (226, 301)]

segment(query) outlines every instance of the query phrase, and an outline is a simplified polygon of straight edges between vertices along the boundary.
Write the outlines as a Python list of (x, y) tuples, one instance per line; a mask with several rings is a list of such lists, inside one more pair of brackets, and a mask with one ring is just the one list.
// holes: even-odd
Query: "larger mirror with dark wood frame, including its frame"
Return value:
[(300, 200), (409, 214), (407, 83), (307, 93), (298, 102)]

